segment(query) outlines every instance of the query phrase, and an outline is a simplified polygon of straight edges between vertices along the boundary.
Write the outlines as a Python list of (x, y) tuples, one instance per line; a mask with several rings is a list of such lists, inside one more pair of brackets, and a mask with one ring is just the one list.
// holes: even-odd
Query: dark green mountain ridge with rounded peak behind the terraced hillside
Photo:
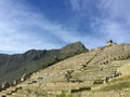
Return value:
[(20, 80), (24, 73), (36, 72), (83, 52), (88, 52), (84, 45), (76, 42), (61, 50), (30, 50), (24, 54), (0, 54), (0, 83)]

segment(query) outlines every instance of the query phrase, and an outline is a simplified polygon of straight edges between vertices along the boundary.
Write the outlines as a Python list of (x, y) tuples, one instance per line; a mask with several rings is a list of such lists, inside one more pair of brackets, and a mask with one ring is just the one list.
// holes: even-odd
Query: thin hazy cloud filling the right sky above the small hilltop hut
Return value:
[(70, 0), (72, 10), (89, 18), (94, 34), (116, 42), (130, 42), (129, 4), (129, 0)]

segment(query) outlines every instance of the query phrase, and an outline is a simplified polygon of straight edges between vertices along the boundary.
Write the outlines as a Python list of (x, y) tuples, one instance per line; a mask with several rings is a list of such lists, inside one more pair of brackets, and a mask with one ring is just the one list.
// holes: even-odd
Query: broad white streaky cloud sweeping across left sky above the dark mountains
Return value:
[(90, 36), (80, 36), (79, 32), (62, 24), (50, 22), (37, 8), (27, 5), (25, 1), (0, 1), (1, 53), (21, 53), (29, 48), (56, 48), (75, 41), (89, 44), (87, 40), (91, 39)]

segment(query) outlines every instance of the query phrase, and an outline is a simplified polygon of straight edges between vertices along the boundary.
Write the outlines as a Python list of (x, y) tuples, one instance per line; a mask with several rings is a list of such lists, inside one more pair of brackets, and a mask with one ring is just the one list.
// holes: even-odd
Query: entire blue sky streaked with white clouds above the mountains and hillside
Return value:
[(130, 0), (0, 0), (0, 53), (130, 43)]

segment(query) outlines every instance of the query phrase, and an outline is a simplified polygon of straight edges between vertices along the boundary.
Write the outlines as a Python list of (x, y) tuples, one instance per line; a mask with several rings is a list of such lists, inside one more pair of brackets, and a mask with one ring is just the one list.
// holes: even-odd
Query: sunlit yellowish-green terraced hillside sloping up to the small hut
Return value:
[[(121, 75), (116, 75), (117, 72)], [(25, 82), (2, 91), (0, 95), (130, 97), (130, 44), (113, 44), (70, 57), (34, 73)]]

